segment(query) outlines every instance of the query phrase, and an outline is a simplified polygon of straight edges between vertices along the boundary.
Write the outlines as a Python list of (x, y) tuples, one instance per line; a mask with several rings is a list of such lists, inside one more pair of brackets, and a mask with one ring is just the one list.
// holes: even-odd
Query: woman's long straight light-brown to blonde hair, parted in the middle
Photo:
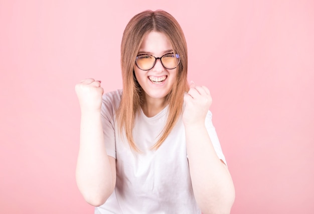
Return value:
[(145, 10), (136, 14), (126, 25), (121, 42), (123, 91), (121, 103), (117, 110), (117, 121), (120, 132), (125, 131), (130, 147), (138, 152), (140, 150), (133, 140), (132, 129), (135, 116), (143, 102), (143, 92), (135, 78), (133, 68), (141, 42), (144, 36), (151, 31), (164, 33), (170, 40), (174, 52), (180, 55), (177, 79), (172, 90), (166, 96), (169, 105), (168, 119), (160, 133), (160, 138), (152, 146), (152, 149), (158, 149), (175, 126), (182, 113), (184, 92), (189, 88), (187, 83), (187, 43), (177, 20), (164, 10)]

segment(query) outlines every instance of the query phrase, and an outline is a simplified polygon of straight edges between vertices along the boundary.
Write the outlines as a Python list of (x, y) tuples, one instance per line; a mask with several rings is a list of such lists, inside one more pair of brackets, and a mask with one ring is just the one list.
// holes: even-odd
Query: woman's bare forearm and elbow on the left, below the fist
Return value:
[(101, 205), (115, 186), (114, 158), (107, 156), (100, 112), (82, 112), (76, 180), (85, 200)]

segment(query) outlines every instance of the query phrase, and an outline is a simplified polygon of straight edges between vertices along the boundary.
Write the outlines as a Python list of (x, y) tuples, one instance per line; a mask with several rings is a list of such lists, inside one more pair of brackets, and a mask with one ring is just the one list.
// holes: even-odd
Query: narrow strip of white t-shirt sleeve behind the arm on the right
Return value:
[(221, 146), (220, 146), (220, 142), (219, 142), (219, 139), (218, 139), (218, 136), (216, 133), (216, 129), (215, 129), (213, 122), (212, 122), (212, 112), (211, 111), (208, 111), (208, 113), (206, 115), (205, 126), (206, 126), (207, 132), (209, 134), (209, 137), (212, 141), (212, 144), (214, 146), (214, 149), (217, 153), (217, 156), (221, 160), (223, 160), (225, 164), (227, 164), (225, 155), (223, 154)]

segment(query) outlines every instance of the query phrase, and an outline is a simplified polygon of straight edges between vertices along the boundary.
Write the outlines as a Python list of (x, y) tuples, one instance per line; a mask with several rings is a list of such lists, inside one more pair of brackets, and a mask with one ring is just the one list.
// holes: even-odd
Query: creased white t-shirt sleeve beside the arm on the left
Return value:
[(112, 92), (102, 96), (101, 104), (101, 124), (104, 134), (104, 142), (107, 155), (116, 158), (115, 149), (115, 123), (114, 114), (116, 111), (115, 94)]

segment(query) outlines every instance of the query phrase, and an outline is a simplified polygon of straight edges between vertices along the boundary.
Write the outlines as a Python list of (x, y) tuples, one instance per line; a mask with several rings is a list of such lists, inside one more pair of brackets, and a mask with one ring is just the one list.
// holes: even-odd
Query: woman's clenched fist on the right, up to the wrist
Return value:
[(212, 96), (206, 86), (196, 86), (190, 83), (190, 90), (184, 94), (185, 109), (183, 122), (185, 125), (205, 123), (205, 117), (212, 104)]

